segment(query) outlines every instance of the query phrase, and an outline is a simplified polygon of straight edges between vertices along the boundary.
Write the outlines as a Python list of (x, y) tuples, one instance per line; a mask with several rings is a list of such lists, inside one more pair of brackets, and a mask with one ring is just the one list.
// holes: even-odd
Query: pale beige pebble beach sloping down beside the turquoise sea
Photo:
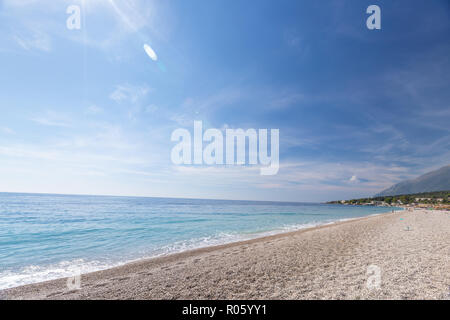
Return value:
[[(433, 217), (433, 221), (427, 222), (430, 217)], [(448, 274), (445, 272), (450, 267), (448, 249), (447, 252), (445, 251), (450, 243), (446, 244), (445, 241), (449, 242), (449, 240), (443, 237), (445, 234), (448, 235), (447, 232), (450, 231), (448, 222), (447, 225), (443, 223), (448, 218), (448, 213), (444, 211), (415, 210), (374, 214), (312, 228), (138, 260), (111, 269), (83, 274), (80, 278), (81, 289), (79, 290), (68, 289), (67, 278), (63, 278), (5, 289), (0, 291), (0, 298), (439, 299), (447, 294), (446, 290), (450, 285)], [(394, 264), (398, 266), (401, 259), (392, 256), (393, 252), (385, 253), (385, 257), (380, 259), (380, 254), (383, 256), (383, 252), (376, 245), (381, 246), (383, 243), (378, 243), (379, 241), (375, 241), (372, 245), (369, 243), (369, 249), (375, 250), (378, 256), (375, 255), (372, 259), (361, 259), (359, 256), (361, 253), (363, 256), (367, 256), (367, 248), (364, 248), (365, 251), (362, 250), (363, 248), (358, 246), (359, 242), (367, 242), (368, 239), (375, 240), (380, 236), (381, 239), (378, 240), (386, 238), (380, 233), (393, 236), (392, 230), (388, 232), (383, 227), (392, 229), (395, 226), (399, 229), (404, 224), (404, 220), (411, 220), (412, 224), (419, 225), (420, 228), (413, 227), (412, 232), (406, 232), (400, 228), (397, 232), (405, 232), (402, 236), (413, 235), (421, 230), (418, 239), (423, 239), (425, 235), (430, 236), (431, 230), (433, 231), (431, 233), (434, 233), (433, 239), (437, 237), (444, 242), (442, 245), (435, 243), (435, 241), (431, 243), (423, 242), (427, 250), (422, 250), (417, 255), (420, 261), (424, 260), (423, 255), (425, 254), (432, 254), (434, 259), (439, 260), (440, 263), (422, 266), (425, 271), (443, 268), (436, 272), (438, 274), (437, 286), (433, 290), (424, 291), (418, 289), (420, 285), (415, 285), (413, 286), (413, 292), (411, 290), (404, 292), (404, 290), (395, 288), (387, 291), (383, 289), (368, 290), (365, 288), (366, 269), (368, 265), (376, 265), (375, 262), (370, 260), (376, 260), (380, 265), (385, 265), (386, 261), (389, 260), (396, 260)], [(392, 222), (394, 223), (392, 224)], [(427, 223), (430, 225), (423, 228)], [(439, 227), (442, 229), (442, 234), (439, 232), (435, 234)], [(402, 238), (400, 237), (400, 239)], [(383, 242), (384, 245), (401, 246), (398, 239), (393, 243), (392, 241)], [(352, 243), (353, 247), (351, 246)], [(417, 247), (413, 243), (406, 244), (406, 246), (408, 248)], [(436, 250), (430, 250), (432, 247), (436, 247)], [(391, 246), (389, 246), (389, 249), (392, 251)], [(354, 251), (358, 254), (355, 254)], [(283, 252), (284, 254), (282, 254)], [(230, 257), (233, 257), (233, 259), (229, 259)], [(363, 267), (355, 269), (355, 261)], [(289, 272), (281, 272), (286, 266), (290, 266)], [(392, 267), (388, 264), (389, 266)], [(400, 263), (400, 266), (403, 267), (401, 268), (403, 271), (405, 271), (404, 267), (414, 267), (413, 265), (405, 266), (402, 263)], [(388, 267), (380, 266), (381, 270), (389, 269)], [(341, 269), (341, 272), (339, 269)], [(330, 271), (332, 271), (331, 274)], [(429, 278), (425, 271), (419, 272), (420, 275)], [(348, 277), (349, 272), (353, 273), (355, 279)], [(335, 282), (337, 278), (340, 278), (339, 273), (341, 273), (341, 276), (344, 275), (345, 278), (341, 279), (344, 281), (339, 281), (339, 286), (348, 288), (349, 285), (356, 285), (358, 290), (336, 288), (335, 283), (333, 285), (328, 283), (327, 285), (327, 281), (324, 284), (324, 280), (329, 276), (331, 276), (329, 280)], [(293, 280), (296, 281), (292, 282)], [(406, 282), (410, 284), (409, 280)], [(265, 290), (261, 290), (261, 284), (264, 284)], [(294, 290), (295, 287), (298, 287), (298, 290)], [(400, 288), (402, 287), (400, 286)], [(410, 286), (410, 288), (412, 287)], [(323, 292), (323, 290), (328, 290), (328, 293)]]

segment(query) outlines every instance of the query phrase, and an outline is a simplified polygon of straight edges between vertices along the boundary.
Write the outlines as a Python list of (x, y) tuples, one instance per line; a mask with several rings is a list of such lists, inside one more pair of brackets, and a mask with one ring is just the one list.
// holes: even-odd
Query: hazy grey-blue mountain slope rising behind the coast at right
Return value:
[(397, 183), (375, 196), (396, 196), (446, 190), (450, 190), (450, 165), (428, 172), (418, 178)]

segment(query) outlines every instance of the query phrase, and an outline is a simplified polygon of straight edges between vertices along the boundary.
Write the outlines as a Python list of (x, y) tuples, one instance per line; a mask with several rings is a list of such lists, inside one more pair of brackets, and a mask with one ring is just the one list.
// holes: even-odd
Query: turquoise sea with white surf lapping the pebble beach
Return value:
[(0, 289), (389, 210), (0, 193)]

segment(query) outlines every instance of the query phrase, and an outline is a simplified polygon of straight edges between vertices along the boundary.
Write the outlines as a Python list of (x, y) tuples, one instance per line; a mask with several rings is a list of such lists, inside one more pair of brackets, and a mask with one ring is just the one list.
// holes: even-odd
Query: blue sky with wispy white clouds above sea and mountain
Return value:
[[(0, 88), (0, 192), (366, 197), (450, 163), (450, 2), (0, 0)], [(173, 164), (195, 120), (278, 174)]]

